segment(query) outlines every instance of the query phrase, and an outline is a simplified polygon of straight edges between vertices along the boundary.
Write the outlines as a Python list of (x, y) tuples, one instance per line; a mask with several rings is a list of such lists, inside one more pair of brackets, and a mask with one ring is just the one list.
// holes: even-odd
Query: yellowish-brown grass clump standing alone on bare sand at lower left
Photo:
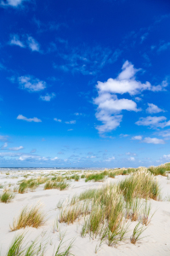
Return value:
[(10, 226), (11, 231), (25, 229), (27, 226), (38, 228), (45, 223), (45, 214), (42, 212), (42, 205), (37, 204), (33, 207), (24, 207), (18, 218), (13, 221), (13, 226)]

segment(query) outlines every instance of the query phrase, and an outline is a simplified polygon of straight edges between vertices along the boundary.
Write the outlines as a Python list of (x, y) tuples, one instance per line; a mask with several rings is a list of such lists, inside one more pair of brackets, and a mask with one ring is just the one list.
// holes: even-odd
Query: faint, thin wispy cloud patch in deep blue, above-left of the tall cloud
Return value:
[(59, 50), (59, 56), (65, 64), (54, 63), (54, 68), (64, 72), (82, 73), (83, 75), (95, 75), (105, 65), (115, 62), (121, 55), (120, 49), (114, 51), (110, 48), (102, 48), (99, 45), (95, 47), (79, 46), (69, 47), (65, 44), (65, 51)]

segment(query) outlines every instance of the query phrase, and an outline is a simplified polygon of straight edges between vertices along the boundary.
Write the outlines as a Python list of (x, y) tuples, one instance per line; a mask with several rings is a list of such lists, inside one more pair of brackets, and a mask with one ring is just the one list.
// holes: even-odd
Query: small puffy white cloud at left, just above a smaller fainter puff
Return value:
[(40, 79), (34, 79), (32, 76), (21, 76), (18, 78), (22, 89), (28, 91), (40, 91), (46, 88), (46, 82)]

